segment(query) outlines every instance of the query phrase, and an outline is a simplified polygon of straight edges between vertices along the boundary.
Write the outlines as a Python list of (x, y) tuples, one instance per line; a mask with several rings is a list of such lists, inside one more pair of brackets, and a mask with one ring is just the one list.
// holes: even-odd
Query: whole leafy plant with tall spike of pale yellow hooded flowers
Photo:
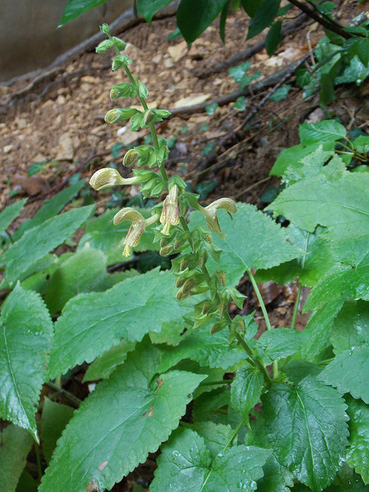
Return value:
[[(300, 145), (272, 169), (284, 189), (268, 209), (285, 227), (227, 197), (202, 207), (179, 177), (167, 177), (167, 143), (154, 126), (167, 112), (148, 109), (123, 41), (102, 30), (108, 39), (97, 51), (114, 49), (113, 69), (128, 77), (111, 98), (138, 95), (142, 104), (119, 105), (105, 119), (149, 127), (153, 144), (125, 154), (124, 165), (137, 163), (132, 177), (105, 168), (90, 183), (140, 184), (156, 202), (97, 218), (93, 205), (55, 215), (77, 182), (12, 236), (6, 230), (25, 201), (1, 213), (9, 294), (0, 415), (11, 422), (1, 433), (3, 490), (37, 489), (22, 470), (40, 436), (35, 449), (48, 463), (43, 476), (39, 464), (40, 491), (109, 490), (158, 447), (151, 491), (366, 490), (369, 178), (354, 166), (366, 160), (369, 137), (347, 135), (332, 119), (300, 126)], [(81, 226), (76, 252), (50, 253)], [(173, 258), (171, 272), (107, 273), (122, 250), (129, 259), (149, 248)], [(245, 272), (268, 328), (258, 340), (253, 314), (227, 311), (231, 301), (243, 306), (235, 286)], [(299, 298), (292, 325), (271, 327), (256, 284), (271, 278), (312, 287), (303, 332), (295, 329)], [(84, 362), (85, 380), (102, 380), (91, 395), (74, 412), (44, 399), (36, 423), (42, 384), (59, 387)]]

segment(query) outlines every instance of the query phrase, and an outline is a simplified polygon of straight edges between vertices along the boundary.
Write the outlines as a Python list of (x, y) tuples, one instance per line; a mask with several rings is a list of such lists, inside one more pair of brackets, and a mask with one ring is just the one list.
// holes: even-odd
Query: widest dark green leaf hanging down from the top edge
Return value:
[(177, 25), (188, 44), (192, 43), (219, 15), (227, 0), (181, 0)]

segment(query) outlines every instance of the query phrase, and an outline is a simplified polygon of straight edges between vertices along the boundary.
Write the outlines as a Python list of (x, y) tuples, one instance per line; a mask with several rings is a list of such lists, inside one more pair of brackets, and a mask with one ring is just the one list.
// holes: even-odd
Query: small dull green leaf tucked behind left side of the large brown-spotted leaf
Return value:
[(42, 452), (48, 464), (53, 456), (57, 440), (72, 418), (73, 412), (74, 408), (71, 406), (62, 405), (44, 397), (41, 420)]

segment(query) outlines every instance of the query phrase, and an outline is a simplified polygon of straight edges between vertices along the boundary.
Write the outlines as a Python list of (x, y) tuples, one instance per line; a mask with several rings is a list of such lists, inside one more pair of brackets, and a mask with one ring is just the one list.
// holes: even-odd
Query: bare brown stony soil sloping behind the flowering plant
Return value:
[[(343, 1), (338, 20), (345, 25), (360, 12), (356, 0)], [(298, 12), (292, 9), (289, 13), (292, 17)], [(265, 38), (262, 33), (246, 41), (247, 25), (245, 13), (231, 11), (225, 44), (214, 23), (190, 49), (183, 38), (167, 39), (176, 29), (175, 17), (153, 21), (152, 26), (140, 22), (123, 33), (114, 32), (128, 43), (124, 53), (133, 60), (132, 73), (138, 74), (149, 89), (149, 107), (152, 104), (175, 113), (158, 125), (160, 136), (172, 144), (168, 174), (180, 175), (193, 191), (201, 191), (205, 204), (227, 196), (264, 208), (268, 199), (262, 202), (260, 198), (279, 185), (277, 178), (269, 177), (279, 152), (299, 143), (300, 123), (326, 117), (318, 96), (304, 100), (293, 77), (287, 81), (291, 89), (286, 99), (260, 102), (273, 91), (274, 82), (262, 91), (249, 90), (246, 110), (233, 108), (235, 101), (229, 100), (232, 97), (227, 100), (227, 95), (239, 90), (239, 84), (228, 74), (228, 67), (249, 61), (246, 75), (260, 71), (255, 82), (263, 82), (308, 55), (324, 36), (319, 25), (306, 20), (283, 38), (272, 57), (260, 47), (251, 57), (231, 64), (236, 54)], [(219, 64), (223, 67), (217, 68)], [(0, 86), (0, 209), (29, 196), (29, 204), (15, 226), (33, 215), (42, 200), (59, 191), (76, 173), (88, 183), (94, 171), (113, 162), (123, 177), (129, 177), (131, 170), (122, 166), (122, 156), (127, 148), (143, 144), (148, 135), (147, 129), (131, 132), (122, 122), (104, 123), (109, 109), (126, 102), (110, 99), (111, 86), (126, 80), (121, 71), (112, 72), (109, 53), (79, 53), (37, 80), (22, 79)], [(353, 122), (363, 126), (369, 115), (368, 85), (338, 91), (340, 97), (329, 106), (330, 114), (346, 127)], [(208, 114), (205, 106), (215, 99), (219, 105)], [(193, 105), (201, 107), (189, 110)], [(245, 124), (251, 112), (252, 118)], [(125, 188), (126, 199), (138, 191), (135, 185)], [(99, 201), (98, 214), (104, 211), (110, 195), (92, 191), (92, 198)], [(251, 296), (247, 305), (250, 312), (256, 301), (246, 278), (240, 289)], [(294, 286), (265, 285), (263, 296), (271, 303), (272, 326), (288, 326), (296, 296)], [(300, 316), (300, 329), (305, 320), (306, 316)], [(154, 460), (148, 460), (113, 491), (130, 491), (132, 480), (147, 487), (154, 466)]]

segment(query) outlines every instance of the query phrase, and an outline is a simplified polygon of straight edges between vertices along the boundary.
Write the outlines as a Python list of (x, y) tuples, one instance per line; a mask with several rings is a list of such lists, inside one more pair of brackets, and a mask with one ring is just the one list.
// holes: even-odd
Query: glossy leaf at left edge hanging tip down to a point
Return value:
[(1, 307), (0, 417), (38, 442), (35, 408), (51, 348), (53, 324), (38, 294), (17, 284)]

